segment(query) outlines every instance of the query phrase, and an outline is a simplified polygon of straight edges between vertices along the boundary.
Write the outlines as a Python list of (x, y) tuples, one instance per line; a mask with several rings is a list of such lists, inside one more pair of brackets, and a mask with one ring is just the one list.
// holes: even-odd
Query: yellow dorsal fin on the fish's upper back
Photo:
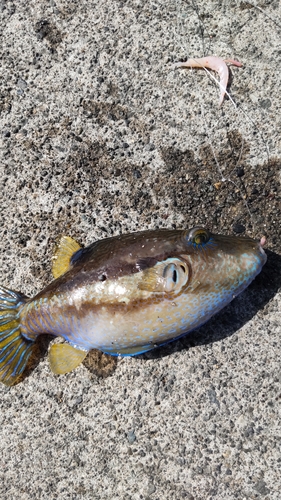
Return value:
[(80, 245), (70, 236), (60, 236), (54, 250), (52, 273), (58, 278), (70, 268), (72, 255), (80, 250)]

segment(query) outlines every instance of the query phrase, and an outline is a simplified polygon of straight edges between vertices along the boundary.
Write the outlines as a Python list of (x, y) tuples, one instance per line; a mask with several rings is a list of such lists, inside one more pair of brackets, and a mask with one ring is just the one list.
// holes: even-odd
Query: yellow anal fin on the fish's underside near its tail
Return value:
[(69, 344), (54, 344), (49, 350), (51, 370), (57, 375), (71, 372), (84, 361), (87, 354), (87, 351), (81, 351)]

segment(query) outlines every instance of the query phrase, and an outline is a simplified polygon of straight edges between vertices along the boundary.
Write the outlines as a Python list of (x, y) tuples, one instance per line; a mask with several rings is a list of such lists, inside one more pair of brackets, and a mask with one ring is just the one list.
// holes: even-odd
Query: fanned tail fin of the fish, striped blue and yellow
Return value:
[(20, 329), (20, 307), (24, 295), (0, 286), (0, 381), (14, 385), (24, 371), (34, 342)]

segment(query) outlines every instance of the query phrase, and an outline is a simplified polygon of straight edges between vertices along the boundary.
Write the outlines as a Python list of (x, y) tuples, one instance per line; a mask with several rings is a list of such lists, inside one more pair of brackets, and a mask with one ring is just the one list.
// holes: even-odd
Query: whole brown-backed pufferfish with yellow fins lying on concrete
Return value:
[(157, 229), (81, 248), (61, 236), (55, 280), (34, 298), (0, 287), (0, 380), (16, 383), (41, 334), (54, 373), (76, 368), (91, 349), (135, 356), (200, 327), (242, 292), (266, 262), (265, 238), (207, 229)]

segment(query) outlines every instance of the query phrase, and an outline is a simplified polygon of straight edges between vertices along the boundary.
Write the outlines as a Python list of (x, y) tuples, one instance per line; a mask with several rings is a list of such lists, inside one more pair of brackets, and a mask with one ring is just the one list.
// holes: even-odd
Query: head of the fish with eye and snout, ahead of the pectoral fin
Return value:
[(267, 259), (264, 237), (256, 241), (196, 227), (184, 232), (183, 239), (180, 259), (188, 266), (189, 277), (182, 292), (200, 296), (200, 302), (208, 302), (213, 310), (221, 309), (242, 292)]

